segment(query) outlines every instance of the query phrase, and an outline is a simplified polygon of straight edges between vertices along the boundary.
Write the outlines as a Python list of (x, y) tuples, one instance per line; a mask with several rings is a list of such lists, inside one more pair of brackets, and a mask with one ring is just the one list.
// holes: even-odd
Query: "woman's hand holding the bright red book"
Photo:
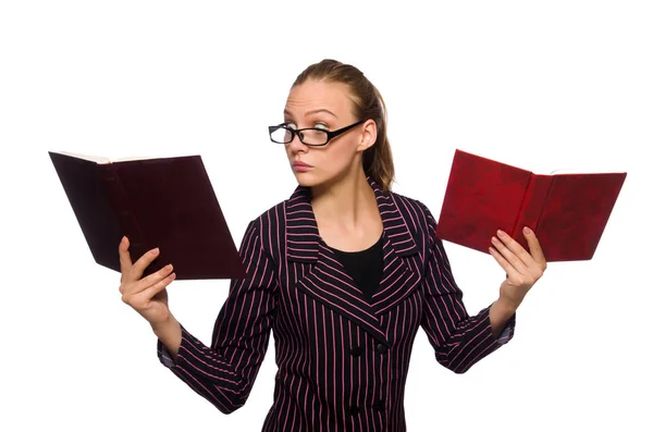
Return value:
[(546, 259), (538, 237), (528, 227), (523, 229), (523, 236), (530, 254), (507, 233), (500, 230), (497, 236), (498, 238), (492, 237), (490, 254), (506, 271), (506, 280), (500, 288), (500, 299), (516, 310), (546, 270)]

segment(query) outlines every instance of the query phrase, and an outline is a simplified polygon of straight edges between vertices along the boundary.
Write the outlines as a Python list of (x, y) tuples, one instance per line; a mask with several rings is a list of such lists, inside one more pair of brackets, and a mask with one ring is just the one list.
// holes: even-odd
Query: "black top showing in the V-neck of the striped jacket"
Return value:
[(369, 248), (355, 252), (331, 248), (370, 304), (372, 295), (379, 289), (383, 275), (382, 238), (383, 235)]

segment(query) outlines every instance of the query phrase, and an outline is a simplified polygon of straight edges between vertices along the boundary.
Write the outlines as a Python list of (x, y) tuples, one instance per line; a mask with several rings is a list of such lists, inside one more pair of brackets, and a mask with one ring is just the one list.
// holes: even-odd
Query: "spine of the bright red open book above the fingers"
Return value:
[(530, 182), (523, 194), (523, 200), (519, 208), (519, 213), (510, 236), (517, 240), (526, 250), (528, 250), (528, 242), (523, 236), (523, 227), (528, 226), (538, 233), (538, 222), (542, 214), (542, 209), (549, 195), (552, 176), (542, 174), (531, 174)]

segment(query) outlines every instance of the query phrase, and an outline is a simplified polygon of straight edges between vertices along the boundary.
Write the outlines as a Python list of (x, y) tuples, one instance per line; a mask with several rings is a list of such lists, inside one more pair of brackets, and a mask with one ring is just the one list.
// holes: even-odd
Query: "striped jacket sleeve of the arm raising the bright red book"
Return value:
[(420, 205), (428, 222), (421, 326), (435, 349), (438, 362), (456, 373), (464, 373), (513, 338), (516, 314), (506, 322), (498, 338), (492, 335), (489, 314), (492, 305), (469, 316), (442, 240), (435, 236), (435, 219), (424, 205)]

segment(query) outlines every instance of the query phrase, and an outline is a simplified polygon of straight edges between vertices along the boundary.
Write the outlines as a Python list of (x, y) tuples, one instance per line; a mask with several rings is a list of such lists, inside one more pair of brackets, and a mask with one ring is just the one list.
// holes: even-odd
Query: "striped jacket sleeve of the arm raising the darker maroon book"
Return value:
[(232, 280), (213, 328), (211, 347), (182, 325), (176, 363), (160, 340), (159, 360), (220, 411), (245, 405), (263, 361), (274, 319), (278, 279), (263, 250), (259, 221), (247, 226), (239, 248), (247, 276)]

